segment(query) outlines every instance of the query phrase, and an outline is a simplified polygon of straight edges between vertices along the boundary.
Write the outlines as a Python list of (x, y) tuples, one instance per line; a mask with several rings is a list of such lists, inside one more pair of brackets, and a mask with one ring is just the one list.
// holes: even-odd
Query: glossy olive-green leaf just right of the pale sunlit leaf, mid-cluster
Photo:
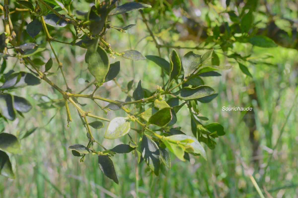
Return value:
[(166, 126), (172, 120), (171, 107), (163, 108), (149, 118), (148, 124), (154, 124), (160, 127)]

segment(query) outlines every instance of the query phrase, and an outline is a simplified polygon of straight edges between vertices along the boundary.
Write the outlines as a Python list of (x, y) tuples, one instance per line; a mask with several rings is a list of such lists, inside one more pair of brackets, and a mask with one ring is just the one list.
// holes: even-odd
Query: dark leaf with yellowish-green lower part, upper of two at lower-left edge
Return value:
[(0, 149), (13, 154), (18, 154), (21, 152), (21, 144), (18, 141), (18, 138), (13, 134), (0, 133)]

